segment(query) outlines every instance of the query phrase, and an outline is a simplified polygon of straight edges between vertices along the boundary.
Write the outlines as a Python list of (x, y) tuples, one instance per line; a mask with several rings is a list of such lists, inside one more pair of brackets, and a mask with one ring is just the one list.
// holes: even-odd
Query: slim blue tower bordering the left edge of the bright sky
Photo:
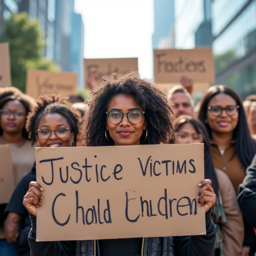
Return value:
[(84, 89), (84, 23), (81, 14), (72, 14), (70, 70), (78, 73), (78, 88)]

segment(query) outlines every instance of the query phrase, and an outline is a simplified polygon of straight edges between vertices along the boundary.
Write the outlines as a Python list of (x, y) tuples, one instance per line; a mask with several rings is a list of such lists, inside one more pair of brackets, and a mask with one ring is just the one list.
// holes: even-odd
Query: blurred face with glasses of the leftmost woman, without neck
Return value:
[(26, 122), (26, 109), (19, 100), (9, 100), (0, 110), (3, 132), (17, 134), (23, 131)]

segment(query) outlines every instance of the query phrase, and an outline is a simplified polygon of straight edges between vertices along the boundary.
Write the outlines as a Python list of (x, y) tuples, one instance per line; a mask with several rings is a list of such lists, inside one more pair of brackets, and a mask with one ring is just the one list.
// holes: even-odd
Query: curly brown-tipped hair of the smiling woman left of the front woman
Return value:
[(68, 99), (55, 94), (44, 95), (36, 103), (36, 107), (28, 114), (26, 123), (26, 129), (32, 142), (36, 142), (36, 129), (41, 118), (46, 114), (58, 113), (67, 119), (72, 132), (75, 133), (74, 143), (76, 145), (76, 134), (78, 133), (78, 124), (81, 121), (81, 115), (78, 110), (71, 107)]

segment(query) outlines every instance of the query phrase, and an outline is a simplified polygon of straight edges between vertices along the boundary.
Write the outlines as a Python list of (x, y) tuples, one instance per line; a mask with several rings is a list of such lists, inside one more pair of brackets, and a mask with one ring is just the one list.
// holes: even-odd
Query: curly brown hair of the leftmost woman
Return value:
[[(26, 116), (28, 115), (28, 112), (30, 112), (31, 109), (36, 105), (36, 101), (32, 97), (23, 94), (18, 88), (0, 88), (0, 109), (2, 109), (3, 106), (10, 100), (19, 100), (26, 110)], [(3, 129), (1, 126), (0, 135), (3, 135)], [(28, 132), (26, 131), (25, 126), (22, 131), (22, 137), (28, 140)]]

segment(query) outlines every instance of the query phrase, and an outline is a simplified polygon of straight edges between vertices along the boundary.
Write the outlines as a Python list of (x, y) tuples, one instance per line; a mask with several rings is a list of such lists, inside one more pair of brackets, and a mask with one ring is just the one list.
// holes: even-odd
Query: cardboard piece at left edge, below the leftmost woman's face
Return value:
[(0, 204), (7, 204), (14, 190), (11, 148), (0, 146)]

